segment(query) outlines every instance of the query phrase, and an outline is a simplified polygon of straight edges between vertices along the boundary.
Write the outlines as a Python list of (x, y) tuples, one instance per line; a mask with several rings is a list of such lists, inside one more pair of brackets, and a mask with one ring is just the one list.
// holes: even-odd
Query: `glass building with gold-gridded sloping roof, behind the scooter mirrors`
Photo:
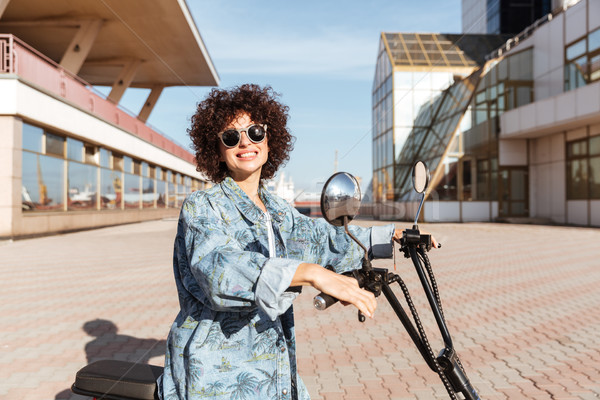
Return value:
[[(455, 81), (462, 81), (484, 62), (485, 55), (510, 36), (382, 33), (373, 82), (373, 213), (398, 216), (403, 177), (398, 163), (406, 140), (421, 135), (424, 112), (437, 104)], [(456, 99), (456, 101), (463, 101)], [(459, 110), (462, 115), (462, 108)], [(430, 114), (427, 114), (431, 116)], [(453, 132), (437, 129), (428, 144), (445, 149)], [(441, 153), (440, 153), (441, 155)]]

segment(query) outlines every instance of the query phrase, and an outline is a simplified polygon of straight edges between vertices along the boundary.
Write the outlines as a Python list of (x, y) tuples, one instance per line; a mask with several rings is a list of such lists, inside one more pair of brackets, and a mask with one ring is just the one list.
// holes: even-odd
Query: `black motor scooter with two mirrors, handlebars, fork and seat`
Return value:
[[(367, 257), (366, 247), (348, 229), (348, 224), (357, 215), (361, 202), (360, 187), (356, 178), (345, 172), (338, 172), (331, 176), (321, 194), (321, 213), (330, 224), (343, 226), (349, 237), (365, 251), (362, 268), (346, 274), (354, 277), (360, 287), (372, 292), (376, 297), (383, 293), (427, 365), (439, 375), (450, 398), (456, 400), (457, 395), (462, 394), (465, 400), (479, 400), (479, 395), (471, 385), (454, 350), (446, 326), (437, 284), (427, 257), (427, 252), (432, 248), (431, 235), (421, 233), (417, 225), (430, 180), (429, 170), (424, 162), (415, 163), (412, 179), (415, 191), (421, 195), (421, 201), (412, 228), (403, 232), (400, 251), (414, 264), (440, 330), (444, 348), (437, 356), (431, 349), (419, 314), (402, 278), (387, 269), (373, 268)], [(398, 283), (400, 286), (414, 323), (392, 291), (393, 283)], [(315, 308), (322, 311), (335, 304), (337, 299), (320, 293), (315, 296), (313, 302)], [(365, 316), (360, 311), (358, 318), (360, 322), (365, 321)], [(154, 400), (157, 398), (156, 380), (162, 372), (162, 367), (154, 365), (100, 360), (77, 372), (71, 391), (94, 399)]]

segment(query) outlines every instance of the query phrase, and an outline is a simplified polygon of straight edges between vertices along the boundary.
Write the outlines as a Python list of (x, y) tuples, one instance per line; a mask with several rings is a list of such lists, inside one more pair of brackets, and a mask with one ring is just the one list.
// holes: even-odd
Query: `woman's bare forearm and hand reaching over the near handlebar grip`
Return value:
[(375, 295), (358, 287), (356, 279), (337, 274), (318, 264), (302, 263), (298, 266), (290, 286), (312, 286), (338, 299), (342, 304), (352, 304), (364, 315), (373, 318), (377, 301)]

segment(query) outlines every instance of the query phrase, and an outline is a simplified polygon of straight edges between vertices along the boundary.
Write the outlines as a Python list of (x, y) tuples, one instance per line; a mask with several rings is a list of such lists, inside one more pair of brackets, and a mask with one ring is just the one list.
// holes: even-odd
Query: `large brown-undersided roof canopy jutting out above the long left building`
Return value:
[(87, 40), (77, 75), (92, 85), (113, 85), (131, 65), (133, 87), (218, 85), (184, 0), (11, 0), (0, 17), (0, 32), (57, 63)]

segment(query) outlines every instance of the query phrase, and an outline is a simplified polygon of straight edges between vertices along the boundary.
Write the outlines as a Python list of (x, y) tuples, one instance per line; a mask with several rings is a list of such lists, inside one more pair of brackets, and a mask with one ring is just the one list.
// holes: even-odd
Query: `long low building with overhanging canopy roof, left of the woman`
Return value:
[(182, 85), (218, 85), (183, 0), (0, 0), (0, 238), (176, 215), (207, 183), (146, 121)]

